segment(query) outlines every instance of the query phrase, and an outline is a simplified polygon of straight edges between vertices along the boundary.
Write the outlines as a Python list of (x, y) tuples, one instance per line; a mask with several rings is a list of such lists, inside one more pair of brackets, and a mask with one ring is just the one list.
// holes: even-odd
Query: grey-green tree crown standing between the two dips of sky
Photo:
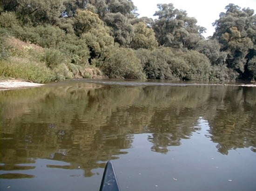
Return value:
[[(158, 43), (170, 47), (186, 47), (190, 34), (200, 38), (203, 28), (196, 25), (197, 20), (187, 16), (186, 11), (175, 9), (172, 3), (157, 4), (159, 11), (155, 12), (153, 29), (158, 38)], [(194, 37), (193, 37), (194, 38)]]

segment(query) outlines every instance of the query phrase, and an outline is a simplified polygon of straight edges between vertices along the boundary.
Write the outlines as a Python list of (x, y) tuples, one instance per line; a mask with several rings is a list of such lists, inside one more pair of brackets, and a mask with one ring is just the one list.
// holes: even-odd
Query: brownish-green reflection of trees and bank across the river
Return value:
[[(236, 99), (232, 98), (234, 92), (238, 93)], [(86, 89), (81, 83), (0, 93), (1, 163), (53, 159), (70, 164), (60, 166), (66, 170), (80, 166), (91, 177), (105, 161), (127, 154), (135, 134), (150, 134), (151, 150), (167, 153), (168, 146), (179, 146), (199, 130), (196, 124), (201, 116), (209, 121), (211, 140), (222, 144), (233, 136), (235, 141), (226, 150), (239, 146), (239, 134), (253, 146), (255, 100), (247, 98), (254, 93), (224, 86)], [(226, 131), (230, 128), (223, 130), (232, 117), (240, 119), (240, 115), (238, 129), (232, 134)]]

